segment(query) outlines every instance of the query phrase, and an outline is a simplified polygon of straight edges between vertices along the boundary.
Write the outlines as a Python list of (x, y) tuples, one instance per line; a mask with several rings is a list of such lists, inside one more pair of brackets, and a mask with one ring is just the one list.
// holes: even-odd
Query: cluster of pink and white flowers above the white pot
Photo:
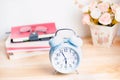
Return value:
[(90, 4), (83, 6), (82, 12), (88, 14), (83, 15), (86, 24), (113, 26), (120, 23), (120, 4), (110, 0), (91, 0)]

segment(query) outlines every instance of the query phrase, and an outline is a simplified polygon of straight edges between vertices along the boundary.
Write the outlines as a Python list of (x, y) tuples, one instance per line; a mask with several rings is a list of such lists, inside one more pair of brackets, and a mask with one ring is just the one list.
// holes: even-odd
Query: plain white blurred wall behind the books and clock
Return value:
[(12, 26), (47, 22), (55, 22), (57, 28), (72, 28), (81, 37), (90, 36), (89, 27), (82, 25), (81, 17), (74, 0), (0, 0), (0, 39)]

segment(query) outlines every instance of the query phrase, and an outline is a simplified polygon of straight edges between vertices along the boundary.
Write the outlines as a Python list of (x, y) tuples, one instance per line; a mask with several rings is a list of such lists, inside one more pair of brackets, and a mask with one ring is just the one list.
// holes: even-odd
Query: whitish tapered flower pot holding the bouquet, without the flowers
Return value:
[(94, 46), (110, 47), (118, 31), (119, 24), (113, 26), (89, 24)]

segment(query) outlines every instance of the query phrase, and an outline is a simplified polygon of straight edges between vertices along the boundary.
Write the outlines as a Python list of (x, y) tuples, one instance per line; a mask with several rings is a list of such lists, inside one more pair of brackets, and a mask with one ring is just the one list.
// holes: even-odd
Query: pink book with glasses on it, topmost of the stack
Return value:
[(38, 39), (49, 38), (56, 32), (55, 23), (42, 23), (24, 26), (15, 26), (11, 28), (11, 39), (13, 42), (28, 41), (32, 36)]

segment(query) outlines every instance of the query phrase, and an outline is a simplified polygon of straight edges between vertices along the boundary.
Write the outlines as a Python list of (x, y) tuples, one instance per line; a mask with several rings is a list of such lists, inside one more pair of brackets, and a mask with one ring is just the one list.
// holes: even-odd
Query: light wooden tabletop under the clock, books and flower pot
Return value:
[(92, 45), (83, 38), (82, 61), (76, 72), (56, 73), (49, 61), (49, 52), (24, 59), (9, 60), (4, 40), (0, 41), (0, 80), (120, 80), (120, 37), (110, 48)]

